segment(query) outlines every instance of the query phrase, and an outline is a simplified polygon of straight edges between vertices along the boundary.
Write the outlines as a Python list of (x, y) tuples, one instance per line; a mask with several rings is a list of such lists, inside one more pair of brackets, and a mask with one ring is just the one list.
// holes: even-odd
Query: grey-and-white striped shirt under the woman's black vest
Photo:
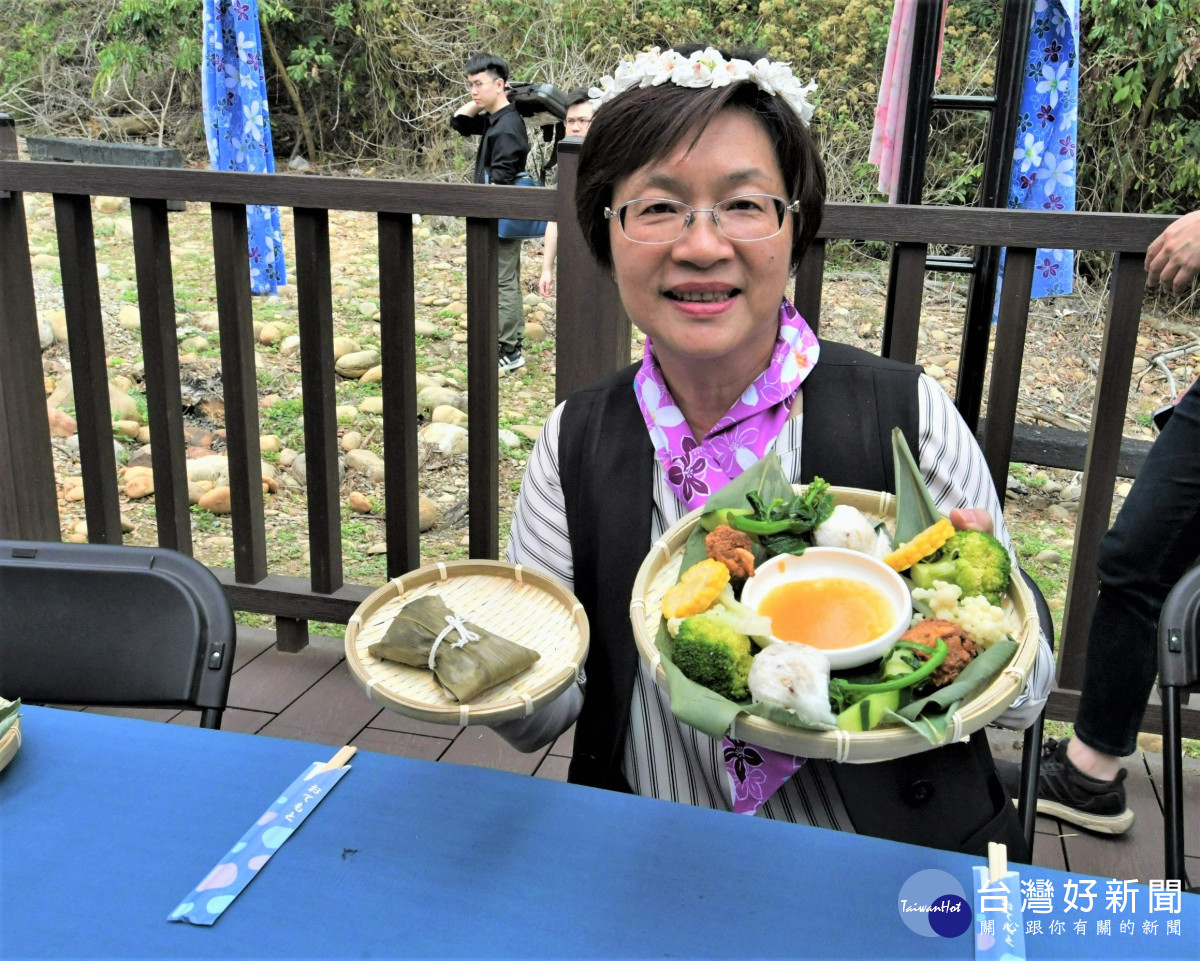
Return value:
[[(984, 507), (995, 518), (996, 536), (1010, 548), (1000, 500), (983, 451), (959, 416), (946, 391), (928, 376), (918, 380), (920, 439), (918, 463), (938, 509)], [(802, 395), (803, 397), (803, 390)], [(566, 529), (566, 505), (558, 473), (559, 406), (547, 419), (529, 458), (509, 537), (508, 559), (546, 571), (574, 587), (574, 561)], [(803, 414), (792, 416), (775, 443), (784, 472), (800, 476)], [(688, 509), (666, 483), (654, 460), (652, 541), (679, 521)], [(649, 551), (650, 545), (646, 545)], [(1027, 727), (1042, 710), (1054, 680), (1054, 655), (1043, 638), (1025, 692), (997, 719), (1004, 727)], [(560, 733), (574, 722), (575, 709), (554, 725)], [(551, 710), (547, 708), (547, 710)], [(638, 794), (683, 801), (700, 807), (731, 809), (721, 743), (688, 727), (671, 714), (670, 699), (640, 665), (630, 707), (623, 774)], [(828, 762), (810, 761), (767, 801), (760, 813), (836, 830), (852, 830)]]

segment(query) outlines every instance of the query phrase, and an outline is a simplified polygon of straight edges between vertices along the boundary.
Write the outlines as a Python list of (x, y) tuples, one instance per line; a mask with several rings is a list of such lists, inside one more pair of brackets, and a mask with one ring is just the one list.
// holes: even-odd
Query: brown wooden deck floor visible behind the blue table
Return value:
[[(299, 654), (276, 649), (271, 631), (240, 627), (229, 707), (222, 728), (475, 764), (535, 777), (566, 780), (571, 732), (550, 747), (523, 755), (486, 727), (457, 728), (415, 721), (380, 709), (350, 678), (342, 642), (313, 635)], [(193, 711), (107, 710), (173, 723), (197, 723)], [(995, 731), (997, 756), (1019, 759), (1020, 735)], [(1051, 818), (1038, 819), (1034, 864), (1102, 877), (1162, 878), (1162, 756), (1138, 752), (1126, 767), (1136, 821), (1121, 837), (1100, 837)], [(1186, 852), (1189, 877), (1200, 881), (1200, 762), (1184, 764)]]

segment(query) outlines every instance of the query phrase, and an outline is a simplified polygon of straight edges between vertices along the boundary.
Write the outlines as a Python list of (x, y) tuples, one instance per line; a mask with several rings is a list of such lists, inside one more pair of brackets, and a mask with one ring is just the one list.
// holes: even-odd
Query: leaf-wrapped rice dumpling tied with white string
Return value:
[(437, 594), (424, 594), (406, 603), (367, 653), (410, 667), (431, 668), (446, 693), (457, 701), (469, 701), (480, 691), (516, 677), (541, 656), (462, 620)]

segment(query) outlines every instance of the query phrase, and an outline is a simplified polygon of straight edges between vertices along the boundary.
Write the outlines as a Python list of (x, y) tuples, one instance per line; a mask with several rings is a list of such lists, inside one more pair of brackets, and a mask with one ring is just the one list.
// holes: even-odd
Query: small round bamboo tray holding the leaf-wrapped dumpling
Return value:
[[(408, 601), (431, 591), (464, 619), (536, 650), (540, 659), (458, 703), (432, 671), (367, 654)], [(346, 662), (372, 701), (409, 717), (460, 727), (532, 714), (575, 683), (587, 653), (588, 618), (575, 595), (539, 571), (499, 560), (450, 560), (389, 581), (359, 605), (346, 629)]]

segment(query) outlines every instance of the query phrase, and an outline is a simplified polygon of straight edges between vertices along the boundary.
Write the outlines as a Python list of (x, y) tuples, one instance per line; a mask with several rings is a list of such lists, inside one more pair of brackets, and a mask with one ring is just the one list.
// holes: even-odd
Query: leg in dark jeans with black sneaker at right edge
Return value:
[[(1039, 794), (1067, 806), (1088, 806), (1090, 788), (1120, 786), (1120, 758), (1136, 749), (1138, 729), (1158, 671), (1158, 615), (1175, 583), (1196, 560), (1200, 545), (1200, 382), (1175, 408), (1100, 542), (1100, 591), (1084, 662), (1075, 737), (1048, 765), (1049, 781), (1069, 776), (1064, 759), (1094, 785), (1070, 793), (1043, 779)], [(1078, 780), (1078, 779), (1076, 779)], [(1121, 806), (1124, 806), (1121, 787)], [(1104, 805), (1100, 804), (1100, 807)], [(1039, 810), (1042, 810), (1039, 807)], [(1068, 816), (1068, 810), (1060, 811)], [(1128, 813), (1128, 812), (1126, 812)], [(1074, 823), (1081, 823), (1075, 821)], [(1124, 818), (1124, 827), (1132, 817)], [(1105, 822), (1084, 824), (1096, 830)], [(1120, 828), (1123, 830), (1124, 828)]]

